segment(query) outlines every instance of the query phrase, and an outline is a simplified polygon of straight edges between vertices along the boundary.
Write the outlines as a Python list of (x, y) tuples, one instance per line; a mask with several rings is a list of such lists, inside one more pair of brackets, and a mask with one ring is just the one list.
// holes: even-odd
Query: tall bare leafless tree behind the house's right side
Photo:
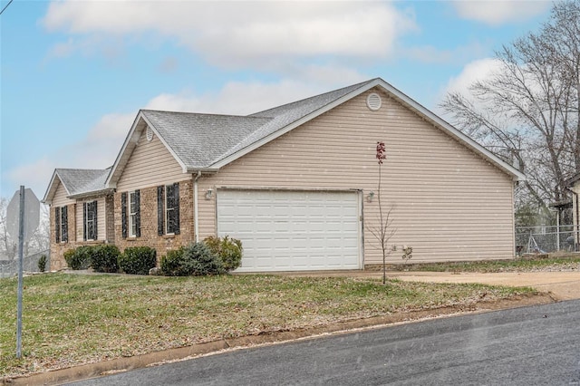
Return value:
[(556, 2), (538, 33), (505, 45), (499, 69), (441, 107), (463, 130), (527, 174), (520, 199), (547, 210), (580, 171), (580, 0)]

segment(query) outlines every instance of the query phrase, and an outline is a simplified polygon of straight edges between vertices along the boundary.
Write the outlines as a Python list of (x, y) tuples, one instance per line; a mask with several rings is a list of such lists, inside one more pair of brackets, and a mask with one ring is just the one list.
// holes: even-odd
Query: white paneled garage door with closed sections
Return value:
[(242, 240), (237, 272), (361, 267), (356, 192), (218, 189), (218, 235)]

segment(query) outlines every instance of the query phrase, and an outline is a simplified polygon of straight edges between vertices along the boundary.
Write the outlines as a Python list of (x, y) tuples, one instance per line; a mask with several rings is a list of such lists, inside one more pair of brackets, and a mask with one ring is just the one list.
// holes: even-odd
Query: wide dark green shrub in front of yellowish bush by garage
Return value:
[(226, 273), (221, 259), (204, 243), (189, 244), (169, 251), (161, 258), (161, 272), (168, 276), (221, 275)]

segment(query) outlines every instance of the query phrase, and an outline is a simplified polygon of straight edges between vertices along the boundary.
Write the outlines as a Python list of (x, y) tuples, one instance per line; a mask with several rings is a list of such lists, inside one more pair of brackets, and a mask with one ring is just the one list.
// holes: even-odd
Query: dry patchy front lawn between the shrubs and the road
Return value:
[(23, 358), (15, 358), (17, 279), (0, 279), (0, 378), (248, 334), (535, 294), (531, 288), (346, 277), (24, 278)]

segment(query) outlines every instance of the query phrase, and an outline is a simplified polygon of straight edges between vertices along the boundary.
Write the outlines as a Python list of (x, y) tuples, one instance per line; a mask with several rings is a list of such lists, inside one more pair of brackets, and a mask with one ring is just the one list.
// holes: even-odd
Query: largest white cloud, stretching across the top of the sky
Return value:
[(417, 28), (412, 14), (377, 2), (59, 1), (43, 25), (86, 39), (160, 34), (229, 68), (277, 67), (288, 57), (384, 58)]

